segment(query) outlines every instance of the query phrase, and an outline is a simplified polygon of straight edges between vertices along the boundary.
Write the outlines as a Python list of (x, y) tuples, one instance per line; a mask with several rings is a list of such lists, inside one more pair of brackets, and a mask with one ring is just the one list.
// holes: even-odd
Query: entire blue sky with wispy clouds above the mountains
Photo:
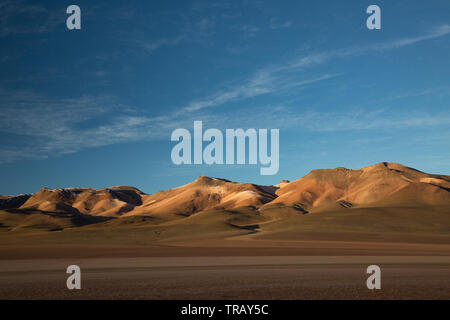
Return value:
[[(449, 56), (447, 0), (3, 0), (0, 194), (274, 184), (381, 161), (449, 175)], [(173, 165), (171, 132), (194, 120), (280, 129), (278, 174)]]

